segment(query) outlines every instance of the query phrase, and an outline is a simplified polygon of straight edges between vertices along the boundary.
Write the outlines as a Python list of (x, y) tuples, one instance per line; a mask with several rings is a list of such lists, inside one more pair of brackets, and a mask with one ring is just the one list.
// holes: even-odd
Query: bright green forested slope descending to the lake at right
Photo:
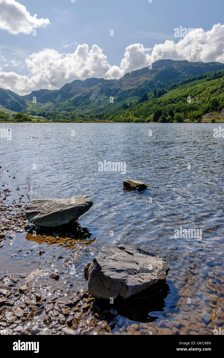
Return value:
[[(108, 120), (121, 122), (172, 122), (192, 119), (200, 121), (209, 112), (210, 118), (224, 108), (224, 70), (200, 74), (144, 93), (128, 106), (111, 109)], [(218, 113), (217, 113), (218, 112)], [(176, 115), (176, 116), (175, 116)], [(206, 117), (207, 118), (207, 117)]]

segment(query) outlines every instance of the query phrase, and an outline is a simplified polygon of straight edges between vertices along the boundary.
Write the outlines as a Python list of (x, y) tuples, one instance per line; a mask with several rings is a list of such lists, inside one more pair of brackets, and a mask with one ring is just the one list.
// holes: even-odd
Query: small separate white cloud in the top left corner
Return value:
[(37, 19), (31, 16), (24, 5), (15, 0), (0, 0), (0, 29), (7, 30), (13, 35), (30, 34), (33, 29), (50, 24), (49, 19)]

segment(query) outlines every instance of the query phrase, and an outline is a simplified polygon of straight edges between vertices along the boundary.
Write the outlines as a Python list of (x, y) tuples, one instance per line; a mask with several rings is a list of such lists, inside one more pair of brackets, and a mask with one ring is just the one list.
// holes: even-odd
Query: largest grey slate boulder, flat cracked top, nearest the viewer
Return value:
[(137, 246), (104, 245), (85, 267), (84, 277), (94, 297), (126, 299), (154, 284), (164, 284), (169, 268), (164, 258)]

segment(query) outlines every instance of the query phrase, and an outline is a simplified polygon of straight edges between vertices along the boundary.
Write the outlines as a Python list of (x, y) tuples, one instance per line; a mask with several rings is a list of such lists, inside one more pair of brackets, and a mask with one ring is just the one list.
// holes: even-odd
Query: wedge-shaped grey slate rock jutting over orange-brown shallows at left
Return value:
[(38, 226), (55, 227), (76, 221), (93, 205), (89, 197), (69, 199), (32, 199), (25, 207), (26, 217)]

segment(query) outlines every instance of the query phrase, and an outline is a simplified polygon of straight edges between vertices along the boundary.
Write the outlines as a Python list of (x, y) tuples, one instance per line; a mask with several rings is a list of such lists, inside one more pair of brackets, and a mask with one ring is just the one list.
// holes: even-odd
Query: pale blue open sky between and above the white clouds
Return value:
[[(14, 0), (0, 0), (0, 10), (1, 3), (4, 1)], [(96, 44), (107, 57), (109, 66), (120, 67), (126, 47), (132, 44), (142, 44), (145, 49), (154, 48), (155, 44), (164, 44), (166, 40), (177, 42), (174, 38), (174, 29), (180, 26), (203, 28), (205, 32), (208, 32), (214, 24), (224, 24), (223, 0), (152, 0), (152, 3), (148, 0), (76, 0), (75, 3), (70, 0), (19, 0), (19, 3), (26, 7), (31, 16), (37, 14), (38, 19), (44, 18), (50, 21), (45, 28), (43, 26), (36, 28), (36, 36), (33, 36), (32, 32), (14, 35), (8, 30), (0, 29), (0, 54), (4, 58), (0, 66), (4, 72), (14, 71), (29, 78), (31, 72), (34, 74), (38, 70), (36, 72), (33, 68), (30, 70), (25, 59), (45, 48), (54, 49), (64, 56), (66, 53), (74, 53), (80, 44), (86, 43), (89, 50), (93, 44)], [(14, 14), (11, 13), (11, 19), (13, 17)], [(111, 29), (114, 30), (114, 36), (109, 35)], [(221, 36), (223, 36), (222, 32), (219, 38)], [(208, 49), (206, 50), (208, 52)], [(152, 51), (146, 50), (146, 52), (150, 54)], [(169, 54), (164, 56), (169, 56)], [(220, 53), (214, 53), (213, 57), (210, 58), (207, 55), (205, 58), (196, 58), (191, 55), (189, 58), (193, 61), (195, 58), (204, 62), (212, 59), (217, 61)], [(140, 61), (139, 65), (142, 63)], [(119, 77), (125, 70), (137, 69), (134, 67), (135, 65), (123, 67), (120, 72), (117, 69), (116, 74), (114, 72), (110, 76)], [(40, 71), (42, 71), (41, 68)], [(100, 71), (99, 74), (101, 74)], [(83, 79), (83, 76), (85, 77), (83, 73), (82, 75), (76, 73), (73, 77)], [(70, 81), (72, 75), (67, 77)], [(6, 86), (5, 81), (5, 78), (2, 82), (0, 79), (0, 86)], [(65, 82), (67, 82), (66, 78)], [(62, 83), (58, 83), (58, 86), (60, 84)], [(55, 85), (57, 87), (56, 83)]]

